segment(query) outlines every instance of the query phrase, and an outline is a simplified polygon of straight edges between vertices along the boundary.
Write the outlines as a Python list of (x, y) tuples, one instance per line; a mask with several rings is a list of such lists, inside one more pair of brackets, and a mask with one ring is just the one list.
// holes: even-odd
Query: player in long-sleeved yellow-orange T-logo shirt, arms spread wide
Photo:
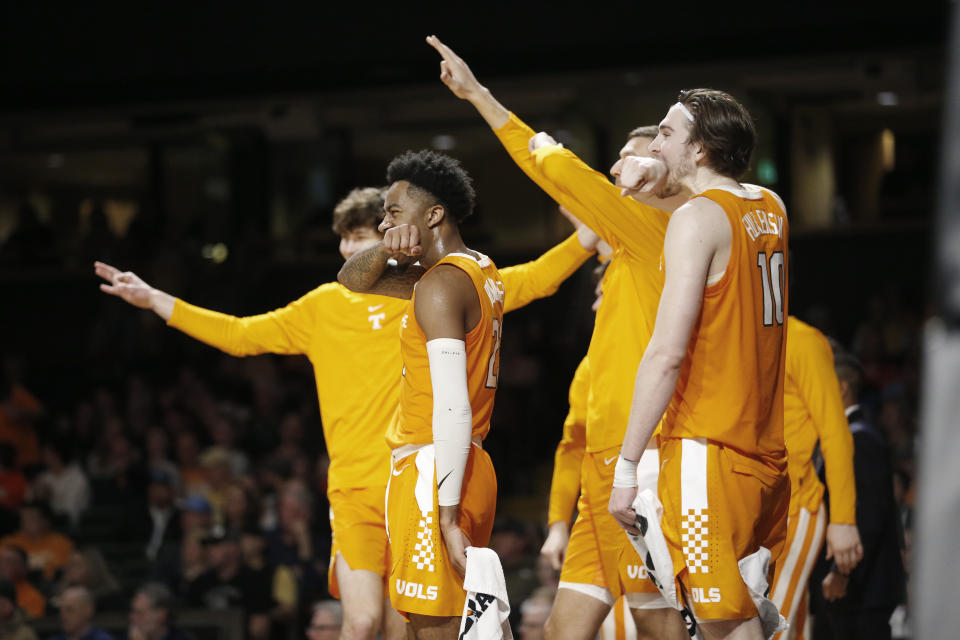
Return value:
[[(383, 190), (353, 190), (335, 208), (333, 230), (348, 259), (379, 242)], [(551, 295), (593, 254), (597, 238), (578, 232), (537, 260), (501, 272), (507, 311)], [(383, 441), (399, 398), (397, 333), (406, 303), (321, 285), (286, 307), (238, 318), (203, 309), (155, 289), (131, 272), (103, 263), (101, 288), (134, 306), (152, 309), (170, 326), (235, 356), (306, 354), (313, 364), (324, 440), (330, 455), (327, 497), (333, 545), (331, 593), (343, 604), (345, 640), (403, 636), (403, 620), (384, 599), (389, 554), (384, 494), (390, 450)], [(371, 362), (381, 363), (371, 367)], [(312, 561), (313, 559), (311, 559)]]

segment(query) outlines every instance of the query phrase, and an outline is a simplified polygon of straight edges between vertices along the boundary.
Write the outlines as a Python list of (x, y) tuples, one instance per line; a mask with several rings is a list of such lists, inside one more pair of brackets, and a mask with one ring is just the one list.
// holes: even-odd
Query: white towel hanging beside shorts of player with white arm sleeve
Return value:
[(467, 547), (463, 589), (467, 600), (463, 603), (459, 640), (513, 640), (507, 583), (496, 551)]

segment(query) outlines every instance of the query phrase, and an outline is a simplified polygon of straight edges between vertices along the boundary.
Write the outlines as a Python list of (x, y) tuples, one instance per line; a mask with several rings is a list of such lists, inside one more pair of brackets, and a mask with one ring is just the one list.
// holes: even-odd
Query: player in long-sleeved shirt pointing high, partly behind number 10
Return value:
[[(560, 585), (545, 632), (550, 640), (592, 640), (614, 602), (627, 594), (638, 638), (686, 637), (679, 614), (653, 583), (637, 571), (642, 563), (607, 512), (614, 462), (623, 440), (633, 378), (653, 332), (663, 287), (661, 254), (669, 212), (686, 194), (659, 199), (621, 197), (618, 186), (545, 133), (534, 134), (481, 85), (469, 66), (435, 36), (427, 42), (440, 53), (441, 81), (486, 120), (514, 162), (540, 188), (595, 231), (613, 249), (603, 279), (609, 304), (597, 311), (590, 340), (586, 451), (580, 478), (577, 520), (570, 532)], [(656, 131), (631, 132), (620, 159), (649, 155)], [(611, 175), (619, 184), (621, 160)], [(656, 486), (656, 440), (644, 456), (641, 477)]]

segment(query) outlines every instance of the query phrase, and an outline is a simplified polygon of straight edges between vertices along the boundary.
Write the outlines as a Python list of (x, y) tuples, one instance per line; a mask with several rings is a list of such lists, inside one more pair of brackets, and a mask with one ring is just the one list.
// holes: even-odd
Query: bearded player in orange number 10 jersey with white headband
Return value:
[(609, 509), (640, 533), (637, 461), (662, 417), (659, 524), (673, 566), (657, 567), (658, 577), (676, 576), (707, 638), (765, 638), (780, 625), (773, 605), (755, 603), (751, 591), (762, 598), (764, 574), (772, 577), (790, 498), (788, 225), (776, 194), (738, 182), (754, 143), (750, 114), (731, 96), (683, 91), (650, 145), (663, 164), (630, 158), (621, 175), (627, 187), (662, 195), (685, 187), (696, 196), (667, 227), (663, 295), (636, 372)]

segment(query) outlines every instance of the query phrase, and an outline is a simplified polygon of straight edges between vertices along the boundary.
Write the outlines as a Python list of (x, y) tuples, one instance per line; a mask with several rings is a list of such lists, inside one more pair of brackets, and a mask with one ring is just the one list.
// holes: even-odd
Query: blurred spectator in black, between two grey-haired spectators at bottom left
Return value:
[(214, 528), (203, 542), (210, 568), (190, 585), (187, 602), (207, 609), (240, 609), (247, 615), (248, 636), (268, 637), (274, 607), (271, 585), (243, 564), (235, 535)]

